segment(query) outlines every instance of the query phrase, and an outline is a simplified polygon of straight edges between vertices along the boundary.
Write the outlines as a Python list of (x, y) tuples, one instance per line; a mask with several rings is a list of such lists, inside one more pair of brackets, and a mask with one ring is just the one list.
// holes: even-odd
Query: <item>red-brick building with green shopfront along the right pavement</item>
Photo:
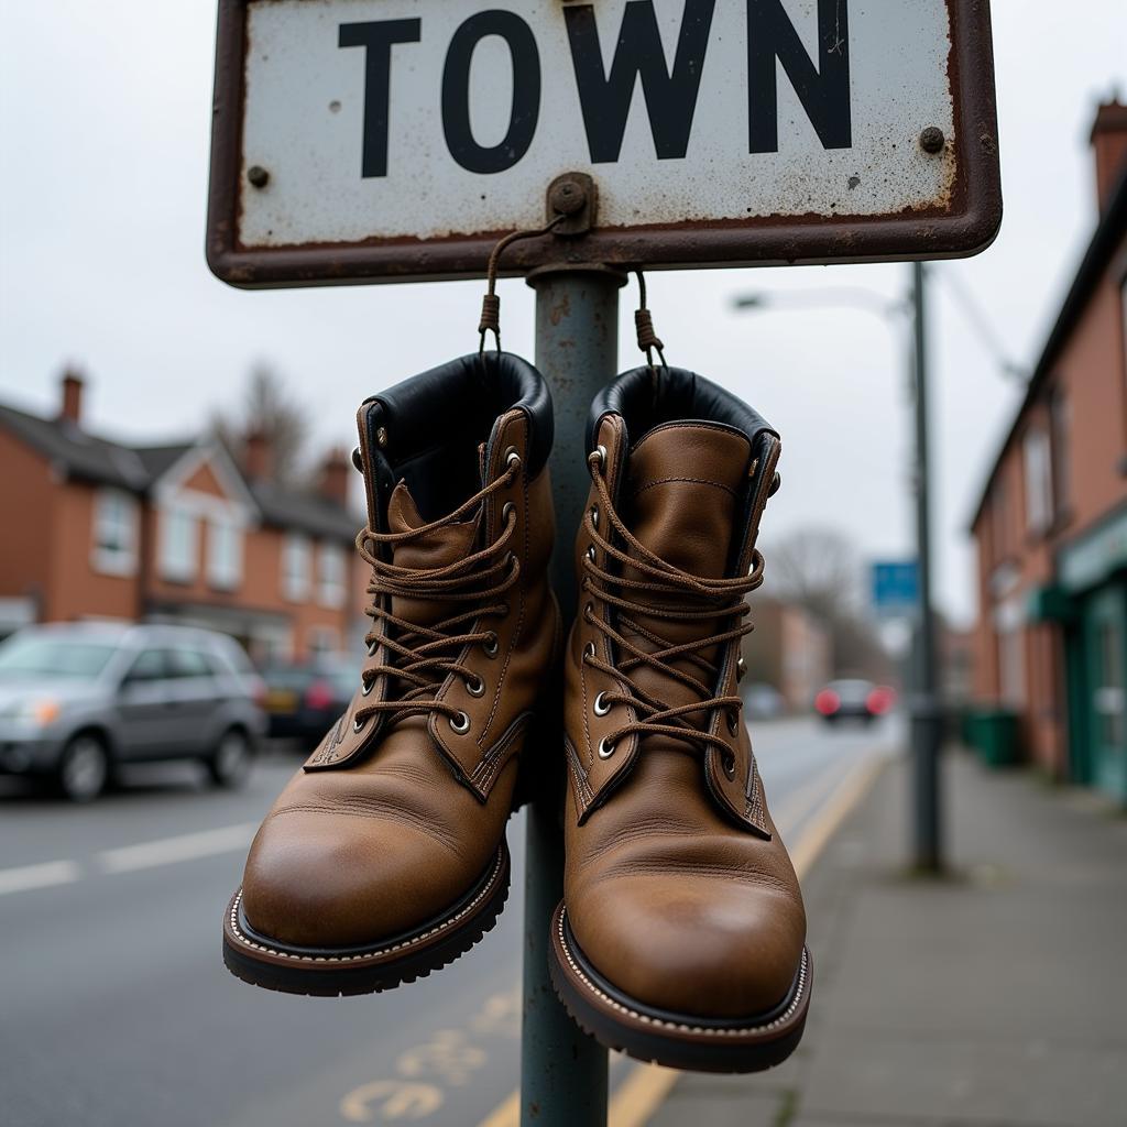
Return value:
[(1095, 232), (973, 521), (975, 696), (1048, 773), (1127, 802), (1127, 106), (1092, 144)]

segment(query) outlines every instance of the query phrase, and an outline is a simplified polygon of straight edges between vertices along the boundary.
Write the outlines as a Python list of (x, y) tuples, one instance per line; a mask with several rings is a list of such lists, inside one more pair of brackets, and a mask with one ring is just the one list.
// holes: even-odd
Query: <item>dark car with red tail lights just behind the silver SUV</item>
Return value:
[(292, 665), (267, 666), (269, 734), (317, 744), (340, 718), (360, 687), (360, 662), (322, 656)]

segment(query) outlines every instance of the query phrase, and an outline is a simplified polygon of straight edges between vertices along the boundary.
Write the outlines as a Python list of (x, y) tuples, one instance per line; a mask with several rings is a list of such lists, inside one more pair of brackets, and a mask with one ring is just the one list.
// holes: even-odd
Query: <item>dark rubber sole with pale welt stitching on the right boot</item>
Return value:
[(552, 917), (549, 971), (557, 995), (575, 1022), (600, 1044), (638, 1061), (689, 1072), (763, 1072), (798, 1048), (814, 982), (810, 952), (787, 997), (767, 1013), (704, 1019), (655, 1010), (609, 983), (579, 949), (564, 905)]

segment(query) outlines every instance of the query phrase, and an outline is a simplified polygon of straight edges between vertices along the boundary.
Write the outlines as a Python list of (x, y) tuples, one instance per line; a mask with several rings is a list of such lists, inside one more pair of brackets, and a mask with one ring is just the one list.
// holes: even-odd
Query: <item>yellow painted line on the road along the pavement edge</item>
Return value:
[[(871, 755), (854, 767), (814, 817), (790, 851), (795, 871), (801, 880), (809, 871), (829, 838), (845, 820), (850, 810), (869, 792), (877, 777), (888, 763), (885, 755)], [(822, 781), (819, 775), (816, 780)], [(800, 797), (814, 787), (804, 787)], [(797, 804), (791, 802), (790, 809)], [(805, 813), (805, 810), (804, 810)], [(781, 819), (780, 819), (781, 820)], [(677, 1082), (681, 1073), (656, 1064), (637, 1064), (611, 1097), (607, 1109), (609, 1127), (645, 1127), (662, 1106)], [(521, 1094), (513, 1092), (479, 1127), (518, 1127), (521, 1122)]]

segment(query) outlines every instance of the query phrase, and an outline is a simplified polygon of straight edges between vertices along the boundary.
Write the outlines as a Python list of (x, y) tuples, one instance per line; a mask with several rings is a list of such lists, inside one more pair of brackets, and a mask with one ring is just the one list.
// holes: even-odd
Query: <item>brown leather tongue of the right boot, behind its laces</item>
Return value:
[[(675, 423), (650, 432), (633, 449), (627, 464), (619, 505), (627, 526), (655, 556), (682, 571), (700, 578), (722, 577), (735, 547), (733, 541), (743, 534), (740, 514), (751, 458), (751, 443), (734, 431)], [(623, 574), (648, 578), (629, 565), (623, 566)], [(694, 605), (691, 597), (629, 591), (624, 594), (655, 610), (663, 605)], [(713, 619), (677, 622), (659, 614), (633, 618), (644, 630), (672, 644), (707, 638), (720, 629)], [(641, 635), (623, 633), (640, 649), (659, 648)], [(712, 665), (719, 660), (715, 646), (695, 653)], [(711, 680), (687, 657), (668, 664), (706, 683)], [(671, 707), (700, 700), (687, 685), (658, 669), (639, 665), (631, 676)], [(690, 717), (695, 727), (702, 727), (706, 720), (704, 713)]]

